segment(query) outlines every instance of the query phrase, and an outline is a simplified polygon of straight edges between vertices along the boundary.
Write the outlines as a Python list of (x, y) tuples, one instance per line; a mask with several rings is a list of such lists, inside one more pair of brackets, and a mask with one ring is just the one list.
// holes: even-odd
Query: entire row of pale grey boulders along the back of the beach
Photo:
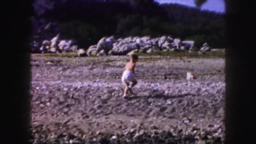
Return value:
[(131, 53), (153, 53), (157, 51), (199, 51), (205, 53), (211, 51), (207, 43), (201, 48), (195, 47), (193, 40), (181, 41), (178, 38), (162, 36), (151, 38), (145, 37), (125, 37), (115, 39), (114, 36), (103, 37), (96, 45), (91, 45), (87, 51), (78, 48), (75, 40), (61, 40), (59, 34), (51, 40), (43, 40), (32, 43), (32, 49), (38, 49), (40, 53), (77, 53), (79, 56), (106, 56), (106, 55), (126, 55)]

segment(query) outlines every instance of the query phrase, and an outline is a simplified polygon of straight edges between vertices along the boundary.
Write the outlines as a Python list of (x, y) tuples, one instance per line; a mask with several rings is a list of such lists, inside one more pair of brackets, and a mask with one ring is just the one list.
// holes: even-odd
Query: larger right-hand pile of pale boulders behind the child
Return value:
[(115, 39), (114, 36), (103, 37), (96, 45), (91, 45), (86, 54), (88, 56), (126, 55), (134, 52), (152, 53), (157, 51), (211, 51), (207, 43), (202, 48), (195, 48), (194, 41), (181, 41), (178, 38), (163, 36), (126, 37)]

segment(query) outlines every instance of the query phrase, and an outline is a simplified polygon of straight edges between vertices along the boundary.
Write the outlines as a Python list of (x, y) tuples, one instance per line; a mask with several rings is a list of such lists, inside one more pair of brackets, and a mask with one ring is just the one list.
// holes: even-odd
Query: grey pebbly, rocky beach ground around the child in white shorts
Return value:
[(128, 59), (33, 54), (34, 144), (221, 143), (224, 59), (140, 56), (136, 95), (123, 99)]

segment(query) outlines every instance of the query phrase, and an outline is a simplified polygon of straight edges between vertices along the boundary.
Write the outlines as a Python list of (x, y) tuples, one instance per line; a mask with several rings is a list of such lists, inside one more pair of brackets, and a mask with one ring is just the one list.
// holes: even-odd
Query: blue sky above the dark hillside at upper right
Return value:
[[(155, 0), (158, 3), (179, 3), (182, 5), (196, 7), (194, 0)], [(219, 13), (225, 13), (225, 3), (224, 0), (208, 0), (202, 5), (201, 10), (216, 11)]]

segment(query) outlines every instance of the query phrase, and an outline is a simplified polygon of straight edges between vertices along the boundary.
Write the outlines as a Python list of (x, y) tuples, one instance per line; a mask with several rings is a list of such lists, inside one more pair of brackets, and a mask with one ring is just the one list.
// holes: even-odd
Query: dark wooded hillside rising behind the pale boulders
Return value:
[(171, 35), (195, 40), (196, 47), (205, 42), (214, 48), (227, 46), (224, 15), (182, 5), (159, 5), (154, 0), (68, 0), (42, 17), (59, 21), (61, 37), (75, 39), (85, 49), (111, 35)]

